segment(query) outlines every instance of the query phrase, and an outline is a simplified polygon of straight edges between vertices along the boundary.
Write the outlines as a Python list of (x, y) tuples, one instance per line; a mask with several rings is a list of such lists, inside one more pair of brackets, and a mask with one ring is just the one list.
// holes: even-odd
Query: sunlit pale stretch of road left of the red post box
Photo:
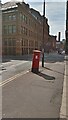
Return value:
[(7, 66), (3, 64), (2, 81), (20, 72), (29, 70), (30, 66), (31, 66), (30, 61), (20, 61), (20, 60), (11, 61), (10, 63), (7, 63)]

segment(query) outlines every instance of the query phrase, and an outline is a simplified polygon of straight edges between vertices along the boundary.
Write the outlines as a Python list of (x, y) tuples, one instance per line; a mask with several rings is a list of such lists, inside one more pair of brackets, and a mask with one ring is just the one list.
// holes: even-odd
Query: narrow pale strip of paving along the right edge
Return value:
[(68, 120), (68, 56), (65, 56), (65, 75), (60, 118), (66, 118)]

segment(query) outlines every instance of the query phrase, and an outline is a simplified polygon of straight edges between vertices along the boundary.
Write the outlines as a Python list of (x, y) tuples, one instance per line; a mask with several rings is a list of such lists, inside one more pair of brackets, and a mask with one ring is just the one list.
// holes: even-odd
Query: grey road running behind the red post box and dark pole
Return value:
[[(44, 61), (45, 63), (63, 62), (64, 55), (59, 55), (57, 53), (51, 53), (51, 54), (45, 53)], [(2, 69), (0, 70), (0, 76), (2, 76), (2, 81), (16, 74), (19, 74), (20, 72), (31, 70), (31, 66), (32, 66), (32, 55), (29, 56), (26, 55), (15, 59), (14, 58), (11, 59), (9, 57), (7, 59), (4, 59), (4, 62), (0, 66), (0, 69)]]

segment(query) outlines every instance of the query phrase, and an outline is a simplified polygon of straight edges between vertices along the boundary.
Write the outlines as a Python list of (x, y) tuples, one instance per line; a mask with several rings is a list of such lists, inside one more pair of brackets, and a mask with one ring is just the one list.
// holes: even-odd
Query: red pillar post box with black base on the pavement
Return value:
[(38, 73), (39, 70), (40, 52), (39, 50), (33, 51), (32, 72), (34, 73)]

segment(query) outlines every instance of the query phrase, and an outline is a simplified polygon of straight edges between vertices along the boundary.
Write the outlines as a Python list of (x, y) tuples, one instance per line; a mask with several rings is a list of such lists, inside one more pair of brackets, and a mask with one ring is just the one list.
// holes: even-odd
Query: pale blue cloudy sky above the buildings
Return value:
[[(1, 0), (2, 3), (14, 0)], [(23, 1), (23, 0), (15, 0)], [(44, 0), (24, 0), (31, 8), (36, 9), (43, 15)], [(45, 0), (45, 16), (48, 18), (50, 26), (50, 35), (56, 35), (58, 40), (58, 32), (61, 32), (61, 41), (65, 39), (66, 30), (66, 0)]]

